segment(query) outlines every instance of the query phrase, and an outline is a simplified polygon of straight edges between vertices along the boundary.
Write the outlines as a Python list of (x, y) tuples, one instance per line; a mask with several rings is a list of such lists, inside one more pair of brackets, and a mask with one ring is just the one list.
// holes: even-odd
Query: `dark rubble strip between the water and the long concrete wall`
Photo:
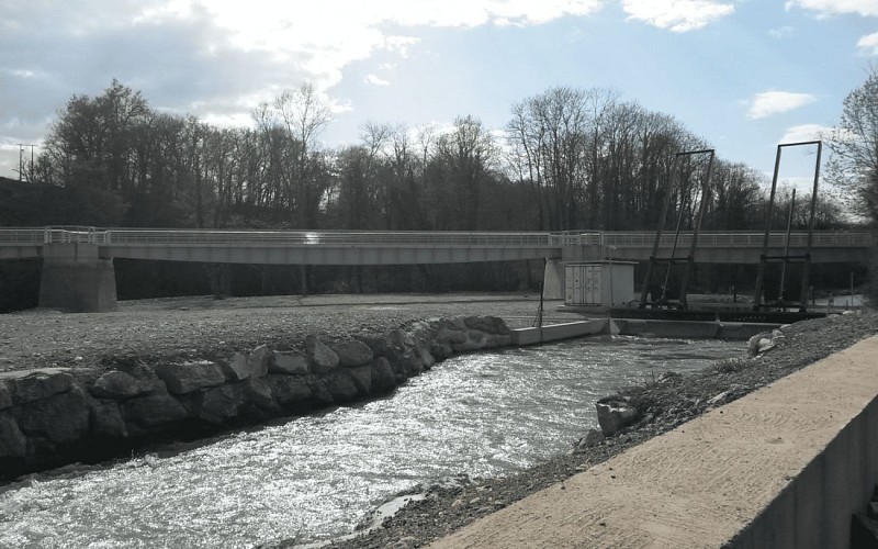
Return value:
[[(607, 402), (635, 410), (633, 423), (612, 436), (583, 426), (567, 455), (499, 479), (464, 479), (455, 485), (419, 486), (398, 513), (335, 548), (410, 548), (454, 531), (513, 502), (562, 482), (706, 411), (736, 400), (856, 341), (878, 334), (878, 314), (863, 312), (785, 326), (754, 339), (751, 356), (718, 362), (693, 376), (664, 376), (624, 389)], [(367, 520), (368, 522), (368, 520)], [(292, 541), (279, 547), (292, 547)]]

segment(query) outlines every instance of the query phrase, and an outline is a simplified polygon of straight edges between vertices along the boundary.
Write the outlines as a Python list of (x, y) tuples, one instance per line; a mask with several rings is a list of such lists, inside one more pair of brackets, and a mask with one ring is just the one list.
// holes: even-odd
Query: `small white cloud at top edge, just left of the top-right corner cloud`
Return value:
[(731, 15), (734, 5), (712, 0), (622, 0), (628, 19), (673, 32), (701, 29)]

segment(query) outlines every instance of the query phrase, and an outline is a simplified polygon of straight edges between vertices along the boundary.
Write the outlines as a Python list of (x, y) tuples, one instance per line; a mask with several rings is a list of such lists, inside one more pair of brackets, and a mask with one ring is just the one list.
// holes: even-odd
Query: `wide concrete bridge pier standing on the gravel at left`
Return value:
[(43, 246), (40, 306), (76, 313), (115, 311), (113, 259), (102, 259), (94, 244), (46, 244)]

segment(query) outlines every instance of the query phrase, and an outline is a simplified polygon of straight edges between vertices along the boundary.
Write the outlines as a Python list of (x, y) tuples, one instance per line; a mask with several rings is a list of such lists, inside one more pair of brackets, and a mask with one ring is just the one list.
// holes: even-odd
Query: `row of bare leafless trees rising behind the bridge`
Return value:
[[(667, 219), (684, 228), (701, 200), (705, 228), (761, 228), (764, 176), (718, 159), (701, 197), (706, 159), (674, 163), (709, 144), (672, 116), (572, 88), (510, 113), (503, 132), (472, 115), (449, 128), (369, 123), (333, 149), (318, 139), (329, 108), (307, 83), (261, 103), (251, 127), (223, 128), (157, 112), (114, 80), (58, 112), (31, 179), (93, 195), (100, 212), (83, 216), (98, 219), (82, 223), (100, 225), (653, 229), (671, 194)], [(832, 204), (821, 212), (823, 226), (840, 222)]]

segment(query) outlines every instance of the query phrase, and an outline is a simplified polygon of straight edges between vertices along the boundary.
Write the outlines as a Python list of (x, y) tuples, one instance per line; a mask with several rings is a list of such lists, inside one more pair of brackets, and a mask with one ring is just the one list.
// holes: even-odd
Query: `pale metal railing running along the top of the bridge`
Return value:
[[(693, 233), (680, 233), (677, 246), (688, 246)], [(699, 247), (758, 248), (762, 232), (701, 232)], [(654, 232), (416, 232), (416, 231), (227, 231), (227, 229), (157, 229), (98, 228), (83, 226), (0, 228), (0, 246), (83, 243), (100, 246), (484, 246), (547, 247), (615, 246), (649, 248)], [(673, 234), (663, 234), (660, 246), (669, 248)], [(769, 235), (770, 247), (787, 244), (786, 233)], [(790, 247), (806, 247), (808, 233), (791, 233)], [(870, 232), (815, 232), (814, 247), (873, 247), (878, 234)]]

